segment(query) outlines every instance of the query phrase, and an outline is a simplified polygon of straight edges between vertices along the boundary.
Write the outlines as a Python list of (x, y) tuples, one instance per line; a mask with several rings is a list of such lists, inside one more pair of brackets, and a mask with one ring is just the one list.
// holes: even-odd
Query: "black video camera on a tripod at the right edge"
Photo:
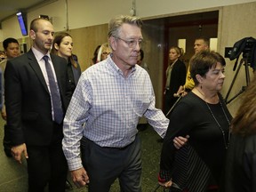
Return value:
[[(239, 59), (240, 54), (243, 52), (243, 58), (246, 60), (247, 64), (255, 70), (255, 64), (256, 64), (256, 39), (252, 36), (245, 37), (239, 41), (237, 41), (230, 53), (229, 59), (235, 60), (236, 64), (237, 60)], [(235, 67), (236, 67), (235, 64)], [(234, 67), (234, 68), (235, 68)], [(236, 68), (235, 68), (236, 69)], [(234, 70), (235, 70), (234, 69)]]

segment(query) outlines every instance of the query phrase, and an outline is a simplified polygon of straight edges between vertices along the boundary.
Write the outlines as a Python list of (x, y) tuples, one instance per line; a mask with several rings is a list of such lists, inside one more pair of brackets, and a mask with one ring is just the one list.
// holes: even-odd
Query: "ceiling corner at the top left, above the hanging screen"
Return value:
[(0, 0), (0, 23), (14, 16), (17, 12), (28, 12), (56, 0)]

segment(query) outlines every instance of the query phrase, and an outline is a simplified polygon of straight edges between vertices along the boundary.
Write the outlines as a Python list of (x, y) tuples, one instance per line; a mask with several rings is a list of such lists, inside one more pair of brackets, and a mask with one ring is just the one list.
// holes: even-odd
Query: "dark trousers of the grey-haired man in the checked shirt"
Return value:
[(90, 192), (108, 192), (118, 178), (122, 192), (141, 192), (140, 139), (126, 148), (101, 148), (92, 140), (81, 141), (83, 165)]

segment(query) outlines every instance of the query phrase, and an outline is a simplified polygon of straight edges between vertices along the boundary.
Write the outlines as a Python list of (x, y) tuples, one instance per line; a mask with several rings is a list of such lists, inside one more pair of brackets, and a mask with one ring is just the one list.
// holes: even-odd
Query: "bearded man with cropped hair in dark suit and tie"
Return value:
[(29, 36), (33, 46), (20, 57), (8, 60), (4, 73), (12, 156), (20, 164), (22, 156), (27, 159), (29, 192), (43, 192), (47, 185), (51, 192), (65, 191), (68, 165), (61, 140), (68, 107), (67, 63), (49, 53), (53, 35), (49, 20), (32, 20)]

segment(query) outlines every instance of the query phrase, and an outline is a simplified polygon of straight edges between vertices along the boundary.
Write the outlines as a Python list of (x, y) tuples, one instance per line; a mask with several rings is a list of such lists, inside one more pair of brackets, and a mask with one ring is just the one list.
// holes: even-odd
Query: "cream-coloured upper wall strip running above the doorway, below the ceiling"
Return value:
[[(244, 4), (255, 0), (134, 0), (136, 14), (143, 19), (161, 18), (170, 14), (182, 14), (182, 12), (197, 12), (228, 6), (231, 4)], [(40, 14), (49, 15), (56, 31), (85, 28), (108, 23), (108, 20), (118, 14), (130, 14), (132, 0), (56, 0), (51, 4), (28, 10), (28, 24)], [(237, 12), (238, 13), (238, 12)], [(0, 41), (12, 36), (21, 38), (19, 23), (16, 15), (4, 20), (0, 29)]]

